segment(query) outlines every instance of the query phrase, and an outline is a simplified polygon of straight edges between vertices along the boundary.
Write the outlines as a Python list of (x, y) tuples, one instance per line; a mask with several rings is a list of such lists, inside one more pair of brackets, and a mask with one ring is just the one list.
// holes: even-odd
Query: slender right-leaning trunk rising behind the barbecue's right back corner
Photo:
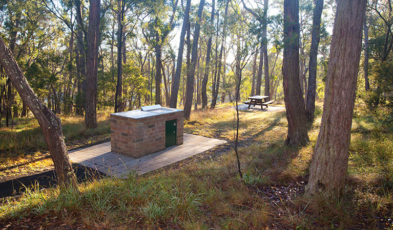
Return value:
[(177, 55), (176, 73), (175, 73), (175, 77), (172, 80), (173, 87), (171, 91), (171, 101), (170, 101), (171, 108), (177, 107), (177, 97), (178, 97), (179, 86), (180, 86), (181, 63), (183, 61), (184, 37), (185, 37), (185, 33), (187, 32), (187, 27), (189, 25), (190, 7), (191, 7), (191, 0), (187, 0), (187, 5), (185, 5), (183, 25), (181, 26), (181, 32), (180, 32), (180, 43), (179, 43), (179, 52)]

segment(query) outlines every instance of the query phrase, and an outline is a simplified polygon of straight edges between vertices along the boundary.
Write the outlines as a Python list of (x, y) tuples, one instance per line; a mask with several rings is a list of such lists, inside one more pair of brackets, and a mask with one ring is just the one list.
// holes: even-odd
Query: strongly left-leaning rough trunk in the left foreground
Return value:
[(44, 134), (45, 142), (51, 153), (60, 187), (74, 186), (74, 188), (76, 188), (76, 177), (68, 158), (68, 151), (66, 143), (64, 142), (63, 131), (61, 130), (60, 119), (58, 119), (55, 114), (39, 100), (37, 95), (35, 95), (1, 36), (0, 64), (3, 66), (7, 76), (13, 82), (19, 96), (27, 103), (38, 120), (38, 124)]

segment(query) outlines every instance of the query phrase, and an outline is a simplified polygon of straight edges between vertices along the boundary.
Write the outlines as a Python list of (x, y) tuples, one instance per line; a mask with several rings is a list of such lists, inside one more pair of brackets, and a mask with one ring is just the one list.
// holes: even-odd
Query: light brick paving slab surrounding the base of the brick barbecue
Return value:
[(110, 142), (70, 151), (69, 157), (72, 163), (96, 169), (107, 175), (126, 178), (130, 171), (141, 175), (224, 143), (226, 141), (184, 133), (182, 145), (172, 146), (137, 159), (111, 152)]

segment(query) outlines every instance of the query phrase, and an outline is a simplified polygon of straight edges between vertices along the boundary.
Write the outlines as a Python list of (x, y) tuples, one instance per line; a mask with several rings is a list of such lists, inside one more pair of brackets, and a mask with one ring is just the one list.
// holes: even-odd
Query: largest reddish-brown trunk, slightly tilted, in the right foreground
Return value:
[(366, 2), (337, 2), (322, 121), (309, 169), (308, 194), (339, 196), (344, 188)]

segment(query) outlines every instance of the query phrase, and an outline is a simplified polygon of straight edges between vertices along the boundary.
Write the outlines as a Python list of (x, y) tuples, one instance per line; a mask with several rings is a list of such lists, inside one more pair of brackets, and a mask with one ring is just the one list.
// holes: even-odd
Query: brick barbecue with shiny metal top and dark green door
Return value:
[(166, 136), (169, 135), (168, 130), (166, 131), (169, 121), (176, 129), (173, 131), (176, 145), (183, 144), (183, 113), (181, 109), (164, 108), (160, 105), (111, 113), (111, 151), (139, 158), (164, 150)]

